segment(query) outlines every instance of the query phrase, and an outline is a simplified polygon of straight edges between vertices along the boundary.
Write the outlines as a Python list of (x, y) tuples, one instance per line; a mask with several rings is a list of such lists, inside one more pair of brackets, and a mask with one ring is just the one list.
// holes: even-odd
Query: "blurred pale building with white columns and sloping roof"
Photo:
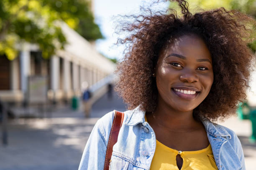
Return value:
[(91, 86), (113, 74), (113, 62), (100, 55), (90, 42), (65, 23), (61, 23), (61, 28), (67, 45), (48, 60), (42, 58), (37, 45), (27, 43), (18, 47), (20, 53), (15, 60), (0, 57), (2, 100), (13, 103), (26, 100), (28, 88), (31, 88), (29, 80), (37, 76), (45, 77), (49, 100), (68, 101), (73, 95), (81, 95), (82, 82)]

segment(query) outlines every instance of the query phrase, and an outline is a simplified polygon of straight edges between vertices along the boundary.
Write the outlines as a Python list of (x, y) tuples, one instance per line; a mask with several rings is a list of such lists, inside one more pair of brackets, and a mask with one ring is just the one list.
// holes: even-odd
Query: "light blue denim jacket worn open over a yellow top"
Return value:
[[(79, 170), (103, 170), (114, 112), (95, 124), (87, 141)], [(245, 170), (244, 155), (236, 134), (208, 120), (202, 121), (219, 170)], [(118, 141), (113, 146), (110, 170), (149, 170), (156, 150), (156, 135), (139, 107), (125, 111)]]

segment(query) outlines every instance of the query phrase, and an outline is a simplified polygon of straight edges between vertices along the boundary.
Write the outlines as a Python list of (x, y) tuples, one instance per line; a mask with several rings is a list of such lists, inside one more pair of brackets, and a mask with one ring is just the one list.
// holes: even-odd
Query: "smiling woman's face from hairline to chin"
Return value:
[(205, 42), (197, 35), (178, 37), (156, 65), (158, 105), (193, 110), (208, 95), (212, 82), (212, 58)]

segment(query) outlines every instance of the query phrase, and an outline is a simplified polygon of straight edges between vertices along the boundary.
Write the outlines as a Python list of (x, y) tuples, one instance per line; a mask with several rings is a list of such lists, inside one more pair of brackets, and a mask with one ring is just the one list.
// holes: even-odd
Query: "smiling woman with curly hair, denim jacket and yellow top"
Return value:
[[(111, 170), (244, 170), (236, 134), (213, 123), (246, 97), (252, 55), (244, 25), (255, 21), (224, 8), (182, 18), (141, 15), (125, 30), (128, 52), (116, 90), (128, 104)], [(102, 170), (114, 112), (97, 121), (79, 170)]]

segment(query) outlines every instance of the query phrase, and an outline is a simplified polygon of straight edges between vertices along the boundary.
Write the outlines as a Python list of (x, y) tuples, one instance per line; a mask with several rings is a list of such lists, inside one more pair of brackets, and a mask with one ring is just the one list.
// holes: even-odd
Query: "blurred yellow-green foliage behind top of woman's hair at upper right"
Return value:
[[(256, 0), (187, 0), (189, 9), (192, 12), (198, 9), (210, 10), (218, 7), (225, 7), (227, 10), (239, 10), (256, 19)], [(170, 7), (177, 9), (177, 3), (170, 3)], [(253, 28), (252, 38), (256, 37), (256, 28)], [(256, 51), (256, 40), (248, 44), (253, 52)]]

